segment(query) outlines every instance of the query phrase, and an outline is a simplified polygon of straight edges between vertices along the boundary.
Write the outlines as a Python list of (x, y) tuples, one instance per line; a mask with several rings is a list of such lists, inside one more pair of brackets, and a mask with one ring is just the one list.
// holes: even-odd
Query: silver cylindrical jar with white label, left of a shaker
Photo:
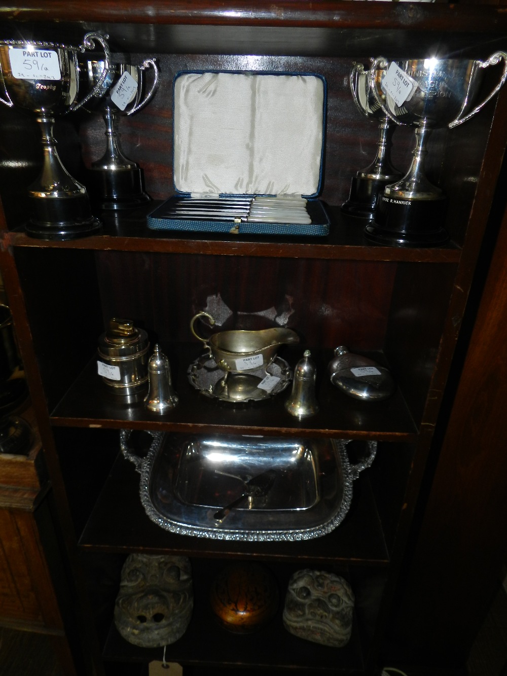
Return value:
[(130, 320), (112, 318), (99, 337), (97, 368), (111, 391), (128, 400), (137, 400), (148, 389), (148, 349), (146, 331)]

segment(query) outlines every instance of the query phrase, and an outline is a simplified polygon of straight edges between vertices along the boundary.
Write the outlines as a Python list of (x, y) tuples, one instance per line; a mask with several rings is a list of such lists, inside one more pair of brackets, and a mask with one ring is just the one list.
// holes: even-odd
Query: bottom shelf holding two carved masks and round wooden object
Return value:
[[(352, 637), (343, 648), (320, 646), (293, 636), (283, 627), (285, 591), (290, 575), (279, 566), (268, 568), (279, 585), (279, 609), (262, 629), (250, 634), (237, 634), (222, 628), (208, 602), (212, 579), (226, 562), (199, 562), (193, 560), (194, 606), (193, 615), (183, 636), (167, 646), (166, 660), (183, 665), (198, 665), (206, 661), (210, 667), (257, 667), (262, 669), (284, 667), (297, 673), (347, 674), (362, 673), (363, 660), (357, 623)], [(295, 566), (294, 571), (300, 566)], [(346, 577), (346, 575), (344, 575)], [(139, 648), (128, 643), (112, 625), (103, 654), (105, 660), (145, 662), (162, 660), (163, 648)]]

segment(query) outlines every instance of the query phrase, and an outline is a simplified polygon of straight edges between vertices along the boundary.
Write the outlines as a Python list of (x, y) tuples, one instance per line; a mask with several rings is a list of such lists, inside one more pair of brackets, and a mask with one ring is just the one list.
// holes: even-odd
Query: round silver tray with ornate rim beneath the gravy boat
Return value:
[(247, 373), (223, 371), (206, 352), (187, 369), (189, 381), (203, 395), (231, 404), (268, 399), (289, 385), (292, 370), (278, 356), (267, 366)]

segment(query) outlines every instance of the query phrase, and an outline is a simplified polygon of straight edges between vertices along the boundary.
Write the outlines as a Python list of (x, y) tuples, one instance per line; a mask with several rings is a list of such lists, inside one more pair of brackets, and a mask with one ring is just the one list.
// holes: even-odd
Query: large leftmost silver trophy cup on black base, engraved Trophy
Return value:
[[(97, 85), (78, 101), (77, 52), (100, 43), (105, 57)], [(105, 39), (87, 33), (79, 47), (37, 41), (0, 41), (0, 65), (7, 99), (1, 103), (35, 114), (42, 132), (43, 168), (28, 187), (26, 232), (39, 239), (75, 239), (95, 233), (101, 222), (91, 213), (86, 188), (70, 176), (53, 137), (55, 116), (78, 110), (100, 89), (109, 68)]]

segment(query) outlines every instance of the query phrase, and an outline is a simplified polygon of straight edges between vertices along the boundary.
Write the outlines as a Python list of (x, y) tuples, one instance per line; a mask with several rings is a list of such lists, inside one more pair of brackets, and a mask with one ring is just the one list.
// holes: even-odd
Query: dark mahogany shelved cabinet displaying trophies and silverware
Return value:
[[(162, 649), (137, 648), (116, 631), (120, 569), (131, 552), (191, 558), (195, 606), (185, 635), (166, 659), (189, 669), (254, 669), (369, 674), (381, 646), (420, 496), (443, 391), (448, 381), (477, 256), (507, 144), (507, 89), (471, 120), (435, 130), (427, 173), (448, 196), (450, 242), (404, 248), (368, 243), (364, 221), (340, 206), (350, 180), (375, 156), (378, 126), (362, 117), (349, 90), (354, 62), (433, 53), (486, 59), (507, 49), (507, 16), (494, 5), (362, 1), (84, 3), (28, 1), (0, 8), (0, 39), (32, 37), (78, 45), (85, 32), (107, 34), (113, 53), (134, 63), (157, 59), (152, 101), (121, 120), (122, 147), (143, 168), (153, 201), (102, 212), (89, 237), (46, 241), (24, 231), (26, 188), (41, 167), (39, 130), (28, 114), (0, 109), (0, 262), (31, 400), (64, 533), (76, 595), (80, 655), (76, 672), (104, 674), (127, 663), (141, 669)], [(331, 220), (326, 237), (268, 237), (151, 231), (146, 216), (174, 192), (174, 76), (184, 70), (304, 72), (327, 84), (320, 199)], [(501, 67), (487, 72), (484, 91)], [(104, 148), (100, 116), (58, 118), (59, 155), (86, 185)], [(414, 132), (393, 135), (393, 163), (408, 169)], [(494, 226), (494, 224), (493, 224)], [(281, 355), (293, 368), (304, 349), (316, 362), (320, 411), (297, 420), (288, 391), (249, 406), (227, 406), (197, 392), (187, 377), (201, 354), (190, 321), (220, 297), (233, 315), (226, 328), (250, 328), (266, 311), (286, 312), (299, 345)], [(119, 404), (97, 375), (97, 341), (114, 316), (132, 318), (167, 354), (178, 406), (154, 416)], [(337, 345), (391, 371), (397, 391), (358, 402), (329, 382)], [(442, 424), (441, 421), (439, 424)], [(445, 423), (444, 423), (445, 424)], [(120, 429), (175, 434), (249, 434), (378, 441), (372, 466), (354, 481), (349, 512), (334, 531), (306, 541), (241, 542), (170, 533), (148, 518), (139, 474), (120, 453)], [(281, 605), (251, 635), (222, 629), (210, 610), (214, 575), (231, 560), (258, 561), (276, 576)], [(287, 581), (310, 568), (343, 575), (354, 590), (352, 639), (322, 648), (283, 627)], [(83, 652), (84, 651), (84, 652)], [(85, 655), (85, 658), (82, 657)]]

